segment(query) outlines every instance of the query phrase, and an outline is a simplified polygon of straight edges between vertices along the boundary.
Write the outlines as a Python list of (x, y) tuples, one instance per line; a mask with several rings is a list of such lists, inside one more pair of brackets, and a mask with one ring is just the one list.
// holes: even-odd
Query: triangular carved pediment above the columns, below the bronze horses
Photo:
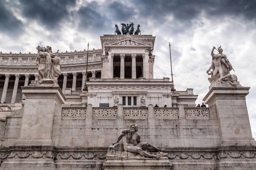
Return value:
[(122, 40), (111, 42), (106, 46), (113, 46), (113, 45), (115, 45), (115, 46), (116, 45), (120, 45), (120, 46), (151, 46), (150, 44), (148, 44), (146, 42), (136, 40), (131, 37), (125, 37)]

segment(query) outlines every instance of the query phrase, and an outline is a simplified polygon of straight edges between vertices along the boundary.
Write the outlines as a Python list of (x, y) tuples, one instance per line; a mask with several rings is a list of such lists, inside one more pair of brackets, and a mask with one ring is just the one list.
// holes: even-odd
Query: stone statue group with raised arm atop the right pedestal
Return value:
[(227, 56), (222, 54), (223, 50), (221, 46), (217, 50), (219, 52), (218, 54), (213, 54), (214, 49), (216, 48), (213, 47), (211, 53), (212, 65), (206, 72), (208, 75), (211, 75), (211, 78), (208, 78), (209, 82), (218, 81), (227, 74), (230, 74), (230, 71), (233, 69), (231, 63), (227, 59)]

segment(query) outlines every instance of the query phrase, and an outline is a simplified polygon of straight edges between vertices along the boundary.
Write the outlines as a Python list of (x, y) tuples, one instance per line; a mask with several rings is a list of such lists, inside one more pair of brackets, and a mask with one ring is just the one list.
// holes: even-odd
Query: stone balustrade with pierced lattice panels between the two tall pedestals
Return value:
[[(209, 119), (209, 108), (184, 108), (180, 105), (178, 108), (153, 108), (150, 107), (124, 107), (119, 104), (118, 107), (63, 107), (62, 117), (93, 117), (95, 119)], [(182, 106), (182, 107), (181, 107)]]

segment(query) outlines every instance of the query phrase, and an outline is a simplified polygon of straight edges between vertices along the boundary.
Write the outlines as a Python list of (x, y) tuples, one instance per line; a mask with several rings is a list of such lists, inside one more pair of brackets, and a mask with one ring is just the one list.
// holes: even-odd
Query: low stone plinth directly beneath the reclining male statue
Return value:
[(172, 170), (168, 159), (148, 160), (107, 160), (103, 162), (104, 170)]

